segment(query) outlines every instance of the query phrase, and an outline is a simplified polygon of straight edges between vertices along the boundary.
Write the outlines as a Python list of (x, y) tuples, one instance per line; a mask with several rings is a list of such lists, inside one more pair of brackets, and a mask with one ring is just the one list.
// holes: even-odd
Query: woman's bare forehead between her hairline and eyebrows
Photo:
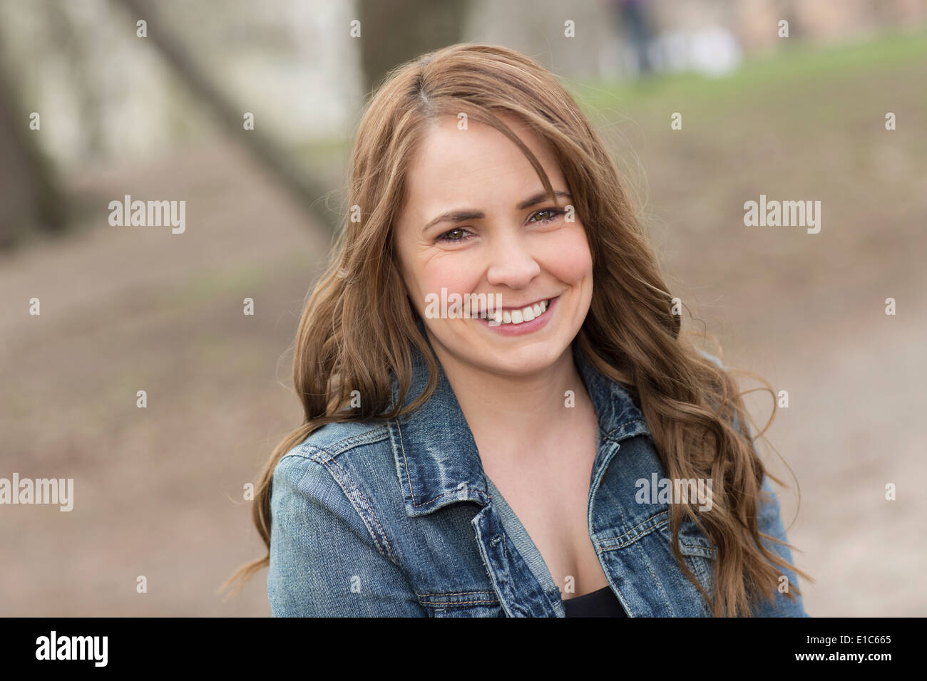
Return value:
[[(505, 117), (502, 121), (538, 158), (551, 182), (563, 183), (550, 145), (520, 120)], [(467, 120), (466, 129), (461, 130), (451, 116), (435, 120), (425, 132), (406, 185), (410, 208), (424, 209), (444, 208), (454, 200), (489, 200), (502, 194), (514, 203), (524, 196), (509, 195), (511, 192), (524, 194), (543, 186), (531, 162), (502, 132), (476, 120)]]

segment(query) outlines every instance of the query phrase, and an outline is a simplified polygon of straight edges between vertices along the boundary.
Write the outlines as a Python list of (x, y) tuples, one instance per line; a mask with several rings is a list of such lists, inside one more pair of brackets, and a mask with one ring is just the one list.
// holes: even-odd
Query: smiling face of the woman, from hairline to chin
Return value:
[[(473, 120), (460, 130), (456, 118), (443, 117), (413, 158), (396, 245), (406, 290), (438, 359), (523, 375), (550, 367), (578, 334), (592, 297), (592, 257), (578, 217), (566, 219), (572, 198), (551, 150), (520, 121), (504, 122), (563, 195), (555, 203), (544, 195), (538, 174), (502, 132)], [(442, 289), (450, 315), (441, 316)], [(476, 295), (472, 309), (495, 304), (500, 294), (503, 320), (512, 321), (456, 314), (454, 294)], [(527, 321), (542, 301), (550, 301), (547, 309)]]

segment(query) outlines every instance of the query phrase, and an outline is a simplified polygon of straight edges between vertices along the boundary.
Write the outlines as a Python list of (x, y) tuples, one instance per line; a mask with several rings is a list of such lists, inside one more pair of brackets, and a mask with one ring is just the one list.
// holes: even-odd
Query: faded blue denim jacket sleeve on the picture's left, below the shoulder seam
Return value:
[[(382, 526), (343, 469), (286, 455), (273, 472), (267, 596), (274, 617), (425, 617)], [(360, 507), (360, 508), (359, 508)], [(365, 520), (366, 519), (366, 520)]]

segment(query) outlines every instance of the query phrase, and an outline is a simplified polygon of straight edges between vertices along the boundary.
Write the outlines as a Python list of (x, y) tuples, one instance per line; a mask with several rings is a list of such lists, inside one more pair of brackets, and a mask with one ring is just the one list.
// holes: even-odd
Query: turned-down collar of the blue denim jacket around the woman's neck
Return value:
[[(396, 472), (409, 516), (425, 515), (457, 501), (489, 501), (486, 474), (483, 470), (476, 441), (464, 417), (457, 397), (435, 355), (434, 347), (418, 320), (419, 332), (425, 337), (428, 350), (438, 367), (438, 385), (432, 396), (413, 413), (389, 422), (390, 439), (396, 457)], [(599, 420), (601, 440), (617, 442), (632, 435), (650, 431), (628, 391), (598, 372), (585, 355), (573, 344), (573, 357)], [(412, 376), (403, 405), (419, 397), (428, 384), (425, 358), (410, 344)], [(399, 399), (399, 383), (392, 380), (393, 404)], [(603, 462), (598, 452), (592, 470)]]

